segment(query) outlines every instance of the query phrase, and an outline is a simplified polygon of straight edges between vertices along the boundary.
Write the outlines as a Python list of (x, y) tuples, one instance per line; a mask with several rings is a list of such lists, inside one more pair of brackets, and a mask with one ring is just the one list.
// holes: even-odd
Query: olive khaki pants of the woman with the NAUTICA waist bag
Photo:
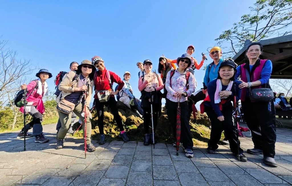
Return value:
[[(84, 130), (84, 117), (81, 116), (83, 109), (84, 109), (84, 103), (80, 103), (74, 108), (73, 112), (81, 119), (81, 121), (83, 123), (82, 129), (83, 129), (83, 131), (85, 131)], [(69, 129), (69, 126), (71, 124), (72, 112), (70, 114), (65, 114), (65, 113), (58, 111), (58, 114), (59, 114), (59, 118), (60, 118), (60, 122), (61, 122), (61, 128), (57, 134), (56, 139), (61, 140), (61, 139), (65, 138), (67, 131)], [(84, 132), (83, 132), (83, 137), (85, 137)], [(89, 144), (89, 143), (91, 143), (91, 121), (90, 121), (90, 118), (87, 117), (86, 118), (86, 144)]]

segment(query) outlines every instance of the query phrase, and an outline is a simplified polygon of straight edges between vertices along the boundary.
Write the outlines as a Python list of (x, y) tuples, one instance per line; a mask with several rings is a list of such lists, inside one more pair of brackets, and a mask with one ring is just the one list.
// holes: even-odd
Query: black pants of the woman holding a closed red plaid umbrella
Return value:
[[(177, 107), (178, 102), (168, 100), (167, 102), (167, 117), (173, 129), (173, 137), (176, 139), (176, 124), (177, 124)], [(191, 129), (188, 121), (188, 103), (187, 101), (180, 103), (180, 142), (183, 143), (185, 149), (193, 150), (193, 140)]]

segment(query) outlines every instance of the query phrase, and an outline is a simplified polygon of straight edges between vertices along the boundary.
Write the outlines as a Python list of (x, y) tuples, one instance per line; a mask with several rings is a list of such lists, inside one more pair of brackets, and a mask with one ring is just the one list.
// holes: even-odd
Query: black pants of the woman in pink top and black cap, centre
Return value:
[(144, 133), (149, 134), (149, 126), (151, 125), (152, 127), (152, 117), (151, 117), (151, 107), (153, 110), (153, 131), (155, 133), (156, 127), (157, 127), (157, 119), (158, 119), (158, 114), (159, 114), (159, 108), (161, 108), (160, 103), (153, 103), (151, 106), (151, 103), (148, 102), (148, 108), (143, 109), (144, 113)]

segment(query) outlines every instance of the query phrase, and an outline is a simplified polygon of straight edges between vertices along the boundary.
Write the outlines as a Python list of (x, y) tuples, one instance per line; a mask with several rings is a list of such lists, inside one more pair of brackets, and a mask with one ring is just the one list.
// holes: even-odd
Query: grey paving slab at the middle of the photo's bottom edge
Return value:
[(127, 186), (153, 185), (152, 174), (150, 172), (131, 171), (126, 183)]

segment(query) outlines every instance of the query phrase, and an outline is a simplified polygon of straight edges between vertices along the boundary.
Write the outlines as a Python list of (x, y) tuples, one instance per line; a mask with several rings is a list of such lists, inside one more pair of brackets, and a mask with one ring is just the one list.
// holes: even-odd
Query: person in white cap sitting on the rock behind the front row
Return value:
[(143, 109), (141, 108), (141, 102), (139, 99), (135, 98), (132, 91), (132, 86), (129, 82), (131, 78), (131, 73), (126, 71), (124, 72), (123, 82), (125, 83), (122, 90), (119, 92), (119, 101), (124, 103), (130, 109), (136, 109), (142, 117), (144, 117)]

